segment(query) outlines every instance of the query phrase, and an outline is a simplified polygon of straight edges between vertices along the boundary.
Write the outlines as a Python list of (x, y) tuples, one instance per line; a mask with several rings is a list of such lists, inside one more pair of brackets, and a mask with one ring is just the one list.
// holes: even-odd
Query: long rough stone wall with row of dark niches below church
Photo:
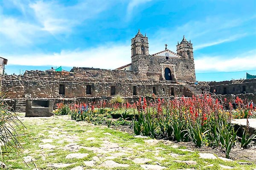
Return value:
[[(76, 76), (74, 78), (58, 78), (55, 74), (51, 77), (28, 77), (28, 76), (2, 76), (2, 91), (8, 92), (8, 98), (24, 98), (25, 94), (32, 98), (74, 98), (92, 96), (140, 96), (152, 94), (160, 96), (182, 95), (182, 85), (172, 81), (150, 81), (130, 79), (93, 79)], [(38, 75), (42, 75), (39, 74)], [(118, 74), (114, 75), (119, 77)], [(102, 77), (102, 75), (99, 75)], [(103, 76), (104, 77), (104, 76)], [(97, 77), (96, 77), (97, 78)], [(63, 92), (61, 92), (63, 88)], [(87, 91), (90, 88), (90, 91)], [(111, 88), (115, 89), (111, 94)]]

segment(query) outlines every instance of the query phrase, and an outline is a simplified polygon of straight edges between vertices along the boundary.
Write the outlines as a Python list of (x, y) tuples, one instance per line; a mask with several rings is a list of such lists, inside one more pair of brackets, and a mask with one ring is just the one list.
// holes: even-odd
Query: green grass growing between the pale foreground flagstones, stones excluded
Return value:
[[(87, 124), (86, 122), (76, 122), (68, 118), (68, 116), (55, 116), (51, 118), (22, 118), (23, 124), (27, 127), (29, 135), (22, 136), (20, 143), (22, 144), (24, 151), (20, 150), (20, 157), (32, 156), (35, 159), (35, 164), (40, 170), (70, 170), (73, 167), (83, 166), (84, 169), (96, 168), (107, 170), (108, 168), (99, 167), (105, 157), (111, 156), (111, 153), (119, 151), (111, 151), (109, 153), (93, 153), (92, 150), (80, 148), (79, 151), (74, 152), (70, 150), (63, 150), (63, 147), (70, 143), (76, 143), (82, 147), (101, 147), (105, 141), (109, 141), (118, 144), (122, 148), (131, 148), (130, 151), (123, 151), (127, 155), (117, 157), (113, 159), (117, 163), (129, 164), (129, 167), (125, 168), (110, 168), (113, 170), (143, 170), (140, 164), (136, 164), (132, 161), (134, 158), (147, 158), (151, 159), (146, 164), (160, 164), (161, 166), (167, 167), (166, 170), (177, 170), (177, 169), (198, 169), (198, 170), (221, 170), (220, 164), (234, 167), (233, 170), (251, 170), (256, 168), (256, 165), (240, 165), (237, 161), (229, 162), (222, 161), (221, 159), (199, 159), (198, 152), (183, 152), (179, 148), (186, 149), (186, 147), (180, 146), (179, 148), (173, 148), (172, 142), (165, 144), (158, 142), (157, 144), (150, 145), (144, 142), (147, 139), (134, 138), (125, 132), (119, 132), (107, 128), (107, 126), (95, 126)], [(56, 133), (56, 134), (55, 134)], [(110, 133), (106, 135), (104, 133)], [(63, 141), (63, 136), (70, 136), (70, 141)], [(60, 139), (54, 139), (52, 137), (60, 137)], [(95, 140), (87, 140), (89, 137), (94, 137)], [(53, 139), (50, 143), (55, 145), (54, 149), (41, 149), (38, 145), (44, 144), (41, 139)], [(76, 141), (79, 139), (79, 141)], [(150, 139), (150, 138), (148, 138)], [(72, 141), (74, 140), (74, 141)], [(70, 153), (89, 153), (89, 155), (83, 159), (66, 159), (65, 157)], [(179, 154), (177, 158), (173, 158), (169, 153)], [(95, 163), (94, 167), (86, 167), (84, 161), (90, 161), (93, 156), (98, 156), (100, 161)], [(8, 170), (22, 169), (31, 170), (34, 169), (34, 163), (28, 163), (29, 167), (23, 163), (23, 160), (17, 156), (17, 154), (11, 153), (8, 156), (4, 156), (3, 162), (7, 165)], [(42, 159), (42, 158), (45, 158)], [(162, 157), (164, 160), (157, 160), (157, 157)], [(187, 165), (184, 163), (175, 162), (175, 160), (193, 160), (196, 161), (196, 165)], [(48, 167), (48, 163), (75, 163), (69, 167), (64, 168), (53, 168)], [(213, 164), (212, 167), (205, 167), (209, 164)]]

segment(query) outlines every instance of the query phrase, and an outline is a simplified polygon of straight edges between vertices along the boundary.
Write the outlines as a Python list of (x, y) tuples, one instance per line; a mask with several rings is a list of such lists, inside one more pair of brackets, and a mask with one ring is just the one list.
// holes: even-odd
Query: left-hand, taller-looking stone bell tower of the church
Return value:
[(134, 57), (138, 54), (148, 55), (148, 37), (140, 33), (140, 29), (138, 33), (135, 35), (133, 39), (131, 39), (131, 57)]

